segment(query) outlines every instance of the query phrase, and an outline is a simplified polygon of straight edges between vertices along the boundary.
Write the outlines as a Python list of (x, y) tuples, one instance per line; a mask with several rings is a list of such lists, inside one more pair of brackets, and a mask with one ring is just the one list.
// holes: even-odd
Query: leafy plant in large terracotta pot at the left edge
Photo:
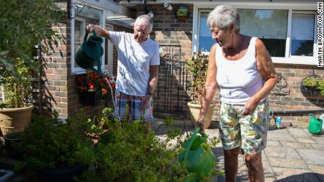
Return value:
[(32, 74), (23, 60), (16, 59), (15, 75), (1, 69), (0, 84), (4, 102), (0, 108), (0, 128), (4, 136), (25, 129), (32, 117), (34, 106), (30, 102), (32, 94)]

